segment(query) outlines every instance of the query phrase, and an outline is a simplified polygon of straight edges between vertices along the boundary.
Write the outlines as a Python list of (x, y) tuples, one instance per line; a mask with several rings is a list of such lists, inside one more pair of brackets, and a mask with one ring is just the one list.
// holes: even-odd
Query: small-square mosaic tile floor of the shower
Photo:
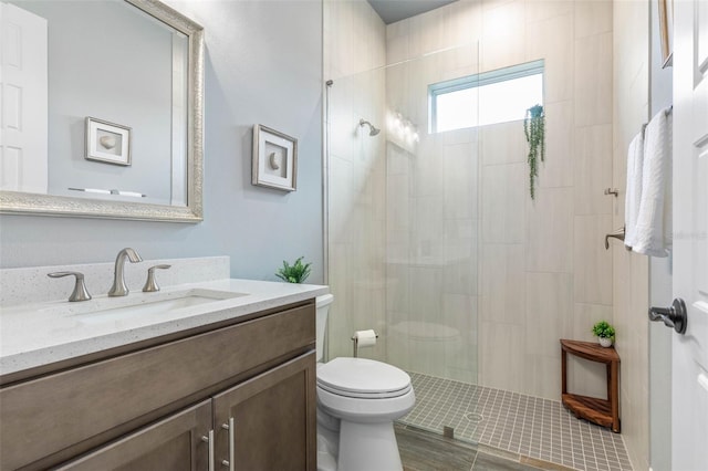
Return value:
[(622, 436), (560, 401), (410, 373), (416, 406), (402, 423), (581, 471), (632, 471)]

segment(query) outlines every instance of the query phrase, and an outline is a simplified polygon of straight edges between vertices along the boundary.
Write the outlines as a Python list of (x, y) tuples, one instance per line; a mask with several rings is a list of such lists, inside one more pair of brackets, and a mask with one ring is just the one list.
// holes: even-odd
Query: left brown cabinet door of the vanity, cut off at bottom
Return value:
[(71, 471), (196, 471), (209, 464), (211, 401), (205, 400), (152, 426), (139, 429), (83, 458), (65, 463)]

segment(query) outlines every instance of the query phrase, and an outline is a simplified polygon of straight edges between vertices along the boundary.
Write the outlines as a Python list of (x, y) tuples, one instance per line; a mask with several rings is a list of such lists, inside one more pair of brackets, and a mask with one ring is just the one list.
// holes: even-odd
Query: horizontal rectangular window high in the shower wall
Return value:
[(543, 104), (543, 61), (438, 82), (428, 96), (430, 133), (523, 119)]

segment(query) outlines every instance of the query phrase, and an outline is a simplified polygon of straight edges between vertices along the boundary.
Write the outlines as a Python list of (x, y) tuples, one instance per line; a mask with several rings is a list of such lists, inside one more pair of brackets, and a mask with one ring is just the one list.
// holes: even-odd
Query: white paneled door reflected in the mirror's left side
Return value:
[(0, 190), (46, 193), (46, 20), (0, 2)]

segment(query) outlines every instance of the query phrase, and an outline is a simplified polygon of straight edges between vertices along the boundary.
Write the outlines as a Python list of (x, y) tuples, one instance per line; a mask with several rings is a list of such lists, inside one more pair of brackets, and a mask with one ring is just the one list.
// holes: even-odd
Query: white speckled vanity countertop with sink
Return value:
[[(185, 305), (169, 312), (119, 318), (105, 310), (149, 305), (185, 293), (220, 292), (236, 297)], [(0, 375), (92, 354), (215, 322), (310, 300), (329, 286), (253, 280), (218, 280), (163, 286), (156, 293), (94, 296), (91, 301), (45, 302), (0, 308)], [(96, 312), (98, 314), (96, 315)]]

